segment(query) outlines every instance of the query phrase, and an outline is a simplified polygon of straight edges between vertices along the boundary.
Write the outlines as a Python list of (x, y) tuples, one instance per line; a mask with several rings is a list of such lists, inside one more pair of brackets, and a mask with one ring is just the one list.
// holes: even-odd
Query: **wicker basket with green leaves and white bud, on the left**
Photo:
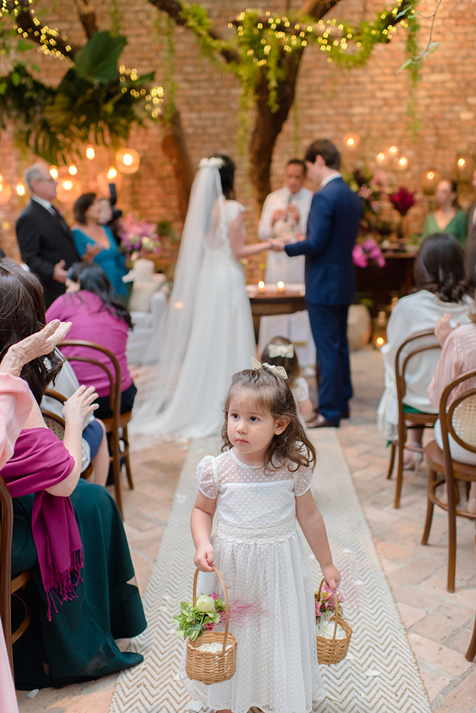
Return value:
[[(227, 681), (237, 670), (237, 640), (228, 631), (229, 625), (229, 600), (227, 587), (221, 573), (216, 567), (213, 568), (222, 583), (224, 602), (226, 606), (226, 621), (224, 631), (209, 631), (199, 636), (195, 641), (187, 639), (187, 657), (185, 660), (185, 671), (187, 676), (194, 681), (201, 681), (207, 685)], [(197, 602), (197, 578), (198, 570), (193, 579), (193, 603)], [(202, 644), (209, 644), (219, 641), (222, 650), (219, 652), (202, 651), (198, 647)]]

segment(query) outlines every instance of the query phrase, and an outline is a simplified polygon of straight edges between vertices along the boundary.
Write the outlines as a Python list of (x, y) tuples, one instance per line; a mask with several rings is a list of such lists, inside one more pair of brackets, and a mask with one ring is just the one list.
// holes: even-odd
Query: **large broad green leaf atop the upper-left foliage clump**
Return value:
[(74, 73), (93, 83), (113, 81), (118, 76), (120, 53), (127, 43), (123, 36), (113, 37), (110, 32), (95, 32), (76, 54)]

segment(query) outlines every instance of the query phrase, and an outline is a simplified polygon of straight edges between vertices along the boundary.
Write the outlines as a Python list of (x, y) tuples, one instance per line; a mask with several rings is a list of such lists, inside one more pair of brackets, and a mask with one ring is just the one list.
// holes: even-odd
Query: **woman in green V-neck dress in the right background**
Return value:
[(436, 187), (435, 198), (438, 208), (428, 213), (421, 239), (437, 232), (448, 232), (454, 235), (461, 247), (466, 247), (467, 217), (457, 200), (457, 184), (454, 180), (440, 180)]

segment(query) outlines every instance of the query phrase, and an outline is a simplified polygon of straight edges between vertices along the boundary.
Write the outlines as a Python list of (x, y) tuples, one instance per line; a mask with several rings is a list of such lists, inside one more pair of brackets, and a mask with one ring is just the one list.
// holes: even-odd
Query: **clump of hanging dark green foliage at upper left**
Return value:
[(90, 140), (118, 148), (134, 124), (157, 118), (163, 101), (161, 87), (149, 89), (154, 73), (118, 68), (126, 43), (123, 36), (95, 33), (57, 88), (17, 63), (0, 78), (0, 127), (14, 123), (17, 140), (48, 163), (68, 163)]

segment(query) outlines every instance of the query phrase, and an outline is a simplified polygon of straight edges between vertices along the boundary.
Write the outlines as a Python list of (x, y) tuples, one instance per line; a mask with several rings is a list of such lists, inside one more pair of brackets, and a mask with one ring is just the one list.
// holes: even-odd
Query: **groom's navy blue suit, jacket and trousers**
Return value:
[(319, 412), (338, 426), (352, 396), (347, 313), (356, 294), (352, 249), (362, 217), (360, 198), (333, 178), (311, 202), (306, 240), (286, 253), (306, 255), (306, 303), (321, 372)]

